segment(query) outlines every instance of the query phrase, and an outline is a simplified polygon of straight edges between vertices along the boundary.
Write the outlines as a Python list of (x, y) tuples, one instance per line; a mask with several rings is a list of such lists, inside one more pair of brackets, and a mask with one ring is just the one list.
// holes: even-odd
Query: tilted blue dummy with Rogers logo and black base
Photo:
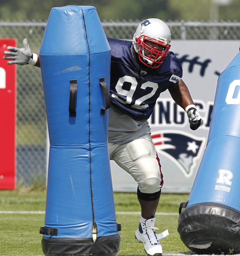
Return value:
[(196, 254), (240, 253), (239, 89), (240, 52), (218, 78), (207, 146), (179, 209), (178, 232)]

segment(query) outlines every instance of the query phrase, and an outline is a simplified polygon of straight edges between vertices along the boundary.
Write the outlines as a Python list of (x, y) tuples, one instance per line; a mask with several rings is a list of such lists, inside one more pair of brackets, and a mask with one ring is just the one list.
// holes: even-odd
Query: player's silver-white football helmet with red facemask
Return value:
[[(143, 20), (137, 27), (133, 36), (133, 46), (142, 63), (151, 68), (158, 68), (171, 47), (170, 40), (171, 32), (167, 24), (162, 20), (151, 18)], [(158, 51), (156, 47), (151, 47), (151, 42), (161, 45), (163, 50)]]

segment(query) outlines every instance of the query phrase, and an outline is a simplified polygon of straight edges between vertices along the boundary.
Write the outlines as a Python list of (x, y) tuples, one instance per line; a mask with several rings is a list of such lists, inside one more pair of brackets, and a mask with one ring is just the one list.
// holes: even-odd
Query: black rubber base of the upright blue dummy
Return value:
[(120, 234), (91, 238), (42, 238), (43, 253), (47, 256), (116, 256), (120, 250)]

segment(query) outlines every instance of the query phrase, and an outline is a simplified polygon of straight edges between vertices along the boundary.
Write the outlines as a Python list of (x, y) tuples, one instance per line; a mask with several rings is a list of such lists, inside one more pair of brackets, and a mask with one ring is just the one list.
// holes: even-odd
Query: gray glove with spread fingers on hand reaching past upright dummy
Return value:
[(29, 64), (32, 60), (32, 52), (28, 45), (28, 39), (23, 40), (23, 48), (16, 48), (12, 46), (8, 46), (7, 49), (9, 51), (4, 51), (6, 54), (3, 58), (8, 61), (7, 64), (18, 64), (18, 65), (25, 65)]

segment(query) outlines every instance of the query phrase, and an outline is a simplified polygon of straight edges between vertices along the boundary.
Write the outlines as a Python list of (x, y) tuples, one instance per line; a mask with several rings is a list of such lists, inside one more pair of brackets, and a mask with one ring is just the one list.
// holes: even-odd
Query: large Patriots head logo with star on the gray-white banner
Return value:
[(204, 137), (170, 130), (152, 132), (151, 137), (158, 153), (166, 155), (175, 162), (185, 177), (192, 175), (196, 160), (204, 149)]

